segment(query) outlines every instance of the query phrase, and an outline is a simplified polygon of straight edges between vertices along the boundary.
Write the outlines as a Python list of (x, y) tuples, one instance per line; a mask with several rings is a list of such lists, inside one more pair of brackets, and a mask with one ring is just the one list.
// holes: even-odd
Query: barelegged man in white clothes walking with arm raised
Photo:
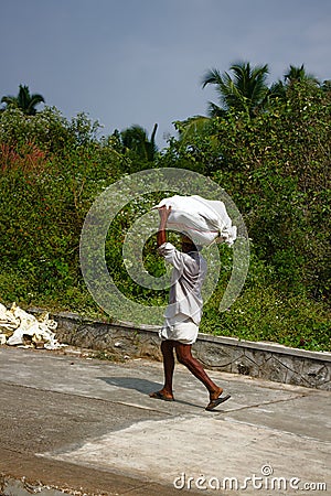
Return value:
[(206, 262), (199, 254), (199, 247), (196, 248), (189, 237), (182, 235), (182, 251), (167, 242), (166, 227), (170, 212), (171, 207), (159, 208), (160, 226), (157, 236), (159, 254), (173, 266), (169, 304), (164, 313), (166, 321), (160, 331), (164, 386), (160, 391), (151, 392), (150, 397), (164, 401), (174, 400), (172, 380), (175, 352), (179, 363), (185, 365), (206, 387), (210, 402), (205, 409), (211, 411), (231, 396), (222, 396), (223, 389), (213, 382), (201, 363), (191, 353), (202, 316), (201, 288), (206, 276)]

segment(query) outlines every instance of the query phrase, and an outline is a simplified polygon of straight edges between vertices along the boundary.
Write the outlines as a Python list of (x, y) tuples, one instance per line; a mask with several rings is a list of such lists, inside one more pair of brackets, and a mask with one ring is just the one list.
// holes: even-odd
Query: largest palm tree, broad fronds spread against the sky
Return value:
[(233, 64), (229, 69), (233, 75), (226, 72), (221, 74), (213, 68), (203, 77), (202, 87), (215, 85), (221, 101), (221, 107), (210, 103), (209, 115), (223, 117), (228, 110), (234, 110), (253, 117), (264, 106), (268, 94), (268, 65), (250, 67), (249, 62), (243, 62)]

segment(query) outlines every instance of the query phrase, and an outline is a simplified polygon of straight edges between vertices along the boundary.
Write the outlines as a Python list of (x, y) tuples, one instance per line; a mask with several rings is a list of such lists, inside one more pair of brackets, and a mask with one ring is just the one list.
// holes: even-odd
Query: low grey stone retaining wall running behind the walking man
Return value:
[[(52, 317), (58, 323), (56, 336), (62, 343), (107, 352), (119, 359), (162, 358), (158, 328), (154, 326), (106, 324), (70, 313)], [(331, 353), (206, 334), (199, 334), (193, 353), (209, 369), (331, 390)]]

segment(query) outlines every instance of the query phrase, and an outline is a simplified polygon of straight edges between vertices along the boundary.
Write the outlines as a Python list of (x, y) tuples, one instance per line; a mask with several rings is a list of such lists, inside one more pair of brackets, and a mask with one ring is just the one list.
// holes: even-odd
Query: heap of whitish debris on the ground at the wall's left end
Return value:
[(20, 309), (15, 303), (8, 310), (0, 303), (0, 344), (34, 348), (56, 349), (60, 344), (54, 331), (57, 322), (47, 312), (38, 317)]

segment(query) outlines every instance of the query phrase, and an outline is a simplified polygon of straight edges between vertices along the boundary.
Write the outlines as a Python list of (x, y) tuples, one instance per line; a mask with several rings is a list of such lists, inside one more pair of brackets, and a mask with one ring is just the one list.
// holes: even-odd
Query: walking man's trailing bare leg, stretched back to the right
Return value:
[(179, 363), (188, 367), (188, 369), (201, 380), (209, 390), (211, 400), (217, 399), (222, 395), (223, 389), (215, 385), (207, 376), (201, 363), (192, 356), (191, 349), (192, 345), (175, 342), (175, 354)]

